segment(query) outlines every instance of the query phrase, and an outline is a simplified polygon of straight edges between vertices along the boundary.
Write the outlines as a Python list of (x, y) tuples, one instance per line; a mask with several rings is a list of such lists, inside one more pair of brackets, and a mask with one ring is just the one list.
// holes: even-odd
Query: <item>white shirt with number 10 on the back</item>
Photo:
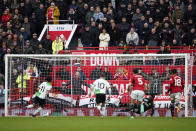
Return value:
[(110, 88), (110, 84), (104, 79), (97, 79), (93, 85), (95, 94), (106, 94), (106, 90)]

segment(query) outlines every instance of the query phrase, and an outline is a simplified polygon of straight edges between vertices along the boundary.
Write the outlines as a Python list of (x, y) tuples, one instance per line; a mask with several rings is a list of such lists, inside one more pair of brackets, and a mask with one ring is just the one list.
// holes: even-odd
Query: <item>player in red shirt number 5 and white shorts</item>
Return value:
[(144, 99), (144, 91), (146, 89), (146, 83), (144, 77), (139, 75), (139, 68), (133, 69), (133, 76), (129, 80), (128, 90), (131, 92), (131, 102), (130, 102), (130, 112), (131, 118), (133, 118), (134, 113), (134, 103), (137, 100), (138, 106)]

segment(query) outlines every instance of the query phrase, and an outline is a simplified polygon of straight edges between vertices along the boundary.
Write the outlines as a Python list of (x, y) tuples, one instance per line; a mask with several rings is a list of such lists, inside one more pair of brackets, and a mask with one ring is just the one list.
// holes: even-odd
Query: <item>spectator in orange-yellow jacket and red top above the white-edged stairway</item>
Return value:
[(52, 20), (55, 20), (55, 21), (49, 22), (49, 23), (59, 24), (59, 21), (57, 21), (57, 20), (59, 20), (59, 16), (60, 16), (59, 8), (57, 6), (55, 6), (54, 2), (51, 2), (50, 7), (48, 7), (48, 9), (47, 9), (46, 17), (50, 21), (52, 21)]

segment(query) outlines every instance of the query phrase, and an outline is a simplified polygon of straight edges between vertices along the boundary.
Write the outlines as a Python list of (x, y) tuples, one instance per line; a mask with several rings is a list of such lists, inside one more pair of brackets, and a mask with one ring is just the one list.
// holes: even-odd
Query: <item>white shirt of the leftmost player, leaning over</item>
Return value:
[(36, 92), (36, 96), (41, 98), (41, 99), (45, 99), (46, 98), (46, 92), (51, 90), (52, 86), (50, 83), (48, 82), (43, 82), (40, 86), (39, 86), (39, 91)]

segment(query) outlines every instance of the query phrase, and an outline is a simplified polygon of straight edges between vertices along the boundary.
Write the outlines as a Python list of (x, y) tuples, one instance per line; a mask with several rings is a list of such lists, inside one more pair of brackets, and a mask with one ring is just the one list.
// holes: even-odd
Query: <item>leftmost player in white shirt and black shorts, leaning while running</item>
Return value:
[(49, 92), (52, 88), (51, 80), (51, 77), (47, 77), (46, 82), (41, 83), (41, 85), (37, 89), (38, 91), (35, 93), (33, 104), (25, 107), (26, 110), (28, 108), (35, 107), (37, 104), (39, 105), (37, 110), (32, 114), (32, 117), (36, 117), (37, 113), (39, 113), (45, 105), (46, 97), (49, 96)]

